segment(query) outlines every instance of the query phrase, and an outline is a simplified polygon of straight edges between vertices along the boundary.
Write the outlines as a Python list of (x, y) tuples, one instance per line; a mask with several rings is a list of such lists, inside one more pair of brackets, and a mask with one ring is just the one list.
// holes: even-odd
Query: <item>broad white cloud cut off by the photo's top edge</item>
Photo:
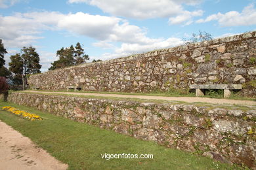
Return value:
[(196, 5), (202, 0), (69, 0), (69, 3), (87, 3), (114, 16), (146, 19), (182, 14), (182, 4)]

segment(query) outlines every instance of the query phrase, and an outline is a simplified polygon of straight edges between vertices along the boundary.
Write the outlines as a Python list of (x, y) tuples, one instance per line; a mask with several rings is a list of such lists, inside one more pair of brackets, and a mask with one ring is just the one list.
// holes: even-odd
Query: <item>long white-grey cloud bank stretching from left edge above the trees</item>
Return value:
[(148, 44), (158, 41), (146, 37), (145, 30), (129, 24), (127, 20), (111, 16), (46, 11), (0, 16), (0, 37), (7, 46), (31, 44), (36, 39), (43, 38), (38, 34), (45, 29), (65, 30), (105, 42)]

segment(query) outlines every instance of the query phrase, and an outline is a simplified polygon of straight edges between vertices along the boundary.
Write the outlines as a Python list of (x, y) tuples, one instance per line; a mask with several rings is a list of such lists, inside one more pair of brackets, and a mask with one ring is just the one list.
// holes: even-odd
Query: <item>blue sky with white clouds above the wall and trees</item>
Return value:
[(0, 39), (9, 56), (33, 46), (41, 71), (80, 42), (93, 59), (169, 48), (198, 30), (212, 37), (255, 31), (256, 0), (0, 0)]

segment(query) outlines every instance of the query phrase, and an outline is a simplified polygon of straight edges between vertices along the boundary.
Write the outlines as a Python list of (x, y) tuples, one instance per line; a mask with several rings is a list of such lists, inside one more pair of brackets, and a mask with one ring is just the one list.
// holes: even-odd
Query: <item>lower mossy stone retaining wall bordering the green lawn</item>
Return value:
[(167, 147), (256, 169), (256, 110), (11, 93), (8, 100)]

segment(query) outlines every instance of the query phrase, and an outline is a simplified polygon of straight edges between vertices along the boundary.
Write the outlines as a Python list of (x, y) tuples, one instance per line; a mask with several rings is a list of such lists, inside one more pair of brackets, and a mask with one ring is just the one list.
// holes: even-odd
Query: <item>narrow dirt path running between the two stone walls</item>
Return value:
[(95, 95), (100, 97), (124, 97), (124, 98), (138, 98), (138, 99), (156, 99), (156, 100), (167, 100), (167, 101), (185, 101), (188, 103), (203, 102), (213, 104), (231, 104), (231, 105), (255, 105), (256, 101), (245, 101), (245, 100), (232, 100), (232, 99), (213, 99), (207, 97), (165, 97), (155, 95), (122, 95), (122, 94), (109, 94), (109, 93), (75, 93), (75, 92), (39, 92), (28, 90), (26, 92), (33, 93), (53, 93), (53, 94), (74, 94), (74, 95)]

